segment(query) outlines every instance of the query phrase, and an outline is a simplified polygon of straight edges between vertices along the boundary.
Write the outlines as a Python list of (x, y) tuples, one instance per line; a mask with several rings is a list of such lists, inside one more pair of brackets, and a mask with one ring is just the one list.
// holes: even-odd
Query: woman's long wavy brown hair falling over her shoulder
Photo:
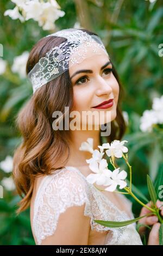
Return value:
[[(88, 34), (95, 34), (81, 29)], [(97, 34), (95, 34), (97, 35)], [(29, 54), (26, 72), (29, 73), (34, 65), (51, 48), (60, 45), (67, 39), (58, 36), (47, 36), (40, 39)], [(106, 141), (120, 139), (126, 131), (126, 124), (121, 111), (122, 93), (124, 93), (113, 66), (113, 74), (120, 86), (116, 119), (111, 122), (111, 134)], [(63, 168), (70, 155), (70, 131), (57, 130), (52, 127), (54, 111), (64, 113), (65, 106), (71, 112), (73, 108), (73, 88), (68, 70), (54, 80), (36, 90), (25, 106), (16, 115), (16, 126), (22, 135), (22, 143), (15, 149), (13, 162), (13, 179), (18, 194), (22, 200), (18, 203), (17, 214), (26, 210), (32, 198), (36, 176), (49, 175), (52, 170)], [(100, 137), (102, 143), (102, 137)], [(62, 153), (67, 153), (62, 154)], [(61, 155), (65, 160), (60, 162)], [(60, 164), (58, 164), (60, 162)]]

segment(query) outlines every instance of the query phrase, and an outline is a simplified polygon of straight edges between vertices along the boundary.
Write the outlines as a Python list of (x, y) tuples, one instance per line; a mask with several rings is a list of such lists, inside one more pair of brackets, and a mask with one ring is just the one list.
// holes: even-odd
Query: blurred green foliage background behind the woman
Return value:
[[(158, 48), (163, 43), (162, 1), (153, 4), (145, 0), (57, 2), (66, 14), (55, 22), (56, 30), (73, 27), (79, 21), (82, 27), (101, 36), (116, 66), (126, 91), (122, 109), (129, 114), (129, 125), (123, 139), (129, 141), (133, 184), (149, 198), (146, 176), (151, 175), (154, 181), (162, 172), (163, 142), (158, 131), (142, 133), (139, 125), (143, 111), (152, 108), (153, 97), (163, 94), (163, 57), (159, 57)], [(14, 7), (11, 1), (0, 2), (0, 43), (4, 46), (3, 58), (8, 61), (7, 71), (0, 76), (0, 161), (7, 155), (12, 156), (21, 141), (14, 117), (32, 95), (27, 79), (22, 80), (11, 72), (13, 59), (23, 51), (30, 51), (42, 36), (53, 32), (43, 31), (33, 20), (21, 23), (3, 15), (5, 10)], [(120, 164), (126, 168), (121, 161)], [(0, 181), (4, 176), (9, 174), (0, 169)], [(19, 200), (16, 191), (4, 191), (4, 198), (0, 199), (0, 245), (35, 244), (29, 209), (15, 216)], [(140, 209), (140, 205), (133, 202), (135, 217), (139, 216)]]

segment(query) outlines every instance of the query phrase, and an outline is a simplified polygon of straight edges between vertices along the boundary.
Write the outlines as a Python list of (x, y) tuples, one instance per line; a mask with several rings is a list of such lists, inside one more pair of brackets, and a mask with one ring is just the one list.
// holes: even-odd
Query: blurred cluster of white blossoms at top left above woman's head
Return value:
[(9, 15), (11, 19), (20, 19), (21, 22), (33, 19), (44, 30), (55, 29), (54, 22), (65, 15), (65, 11), (60, 10), (60, 5), (55, 0), (47, 2), (13, 0), (12, 2), (16, 4), (16, 7), (13, 10), (6, 10), (4, 16)]

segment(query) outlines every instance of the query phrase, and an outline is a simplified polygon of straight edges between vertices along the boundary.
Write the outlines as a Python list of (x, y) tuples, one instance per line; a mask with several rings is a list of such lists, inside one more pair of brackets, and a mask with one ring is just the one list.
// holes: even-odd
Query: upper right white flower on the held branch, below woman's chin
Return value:
[(105, 153), (106, 155), (108, 155), (109, 157), (111, 156), (115, 156), (117, 158), (122, 157), (123, 153), (127, 153), (128, 152), (128, 148), (124, 147), (123, 144), (125, 142), (128, 141), (118, 141), (117, 139), (115, 139), (114, 141), (111, 142), (111, 144), (109, 143), (104, 143), (103, 147), (104, 148), (108, 148)]

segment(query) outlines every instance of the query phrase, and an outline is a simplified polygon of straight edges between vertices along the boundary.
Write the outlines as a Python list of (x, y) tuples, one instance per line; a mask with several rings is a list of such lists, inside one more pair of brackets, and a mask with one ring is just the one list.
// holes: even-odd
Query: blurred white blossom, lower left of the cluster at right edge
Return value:
[(140, 118), (140, 130), (143, 132), (151, 132), (152, 125), (158, 123), (158, 117), (153, 109), (145, 110)]

